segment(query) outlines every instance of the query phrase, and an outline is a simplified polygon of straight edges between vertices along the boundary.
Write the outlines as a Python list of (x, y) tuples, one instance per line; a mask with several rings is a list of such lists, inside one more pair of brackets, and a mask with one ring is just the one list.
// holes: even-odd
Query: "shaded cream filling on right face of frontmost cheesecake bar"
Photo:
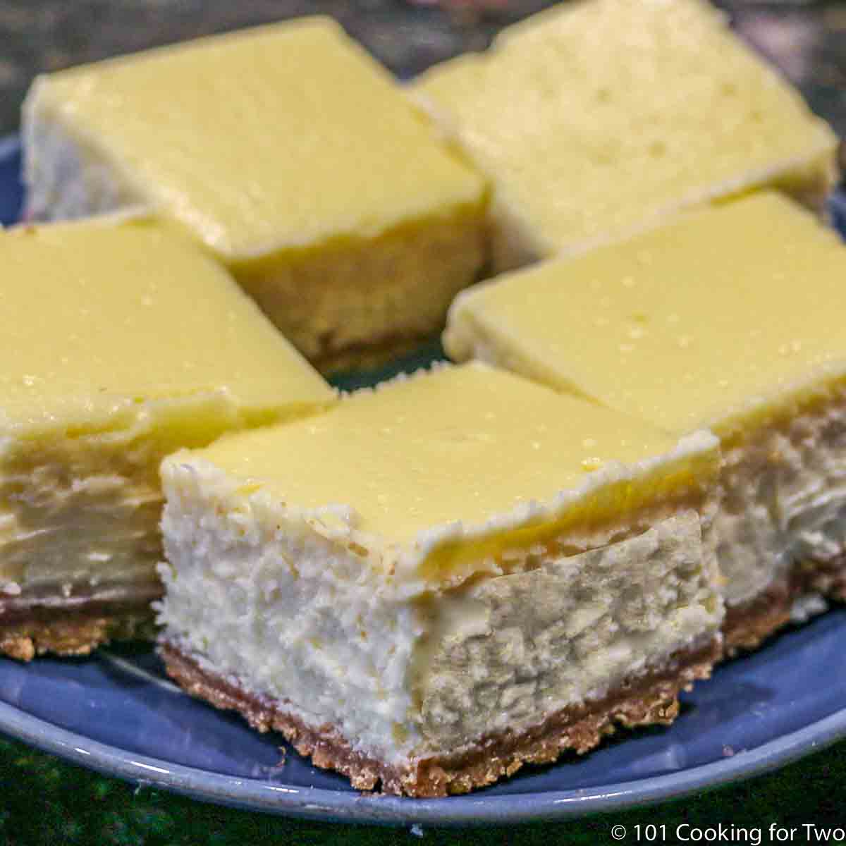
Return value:
[(415, 752), (531, 728), (707, 645), (722, 624), (716, 580), (699, 515), (687, 511), (629, 540), (440, 598), (415, 651)]

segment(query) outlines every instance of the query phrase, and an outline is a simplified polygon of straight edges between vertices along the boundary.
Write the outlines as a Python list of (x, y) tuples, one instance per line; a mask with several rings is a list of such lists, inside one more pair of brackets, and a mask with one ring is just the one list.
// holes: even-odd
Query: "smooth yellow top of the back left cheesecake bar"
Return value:
[(34, 108), (227, 261), (481, 202), (481, 179), (329, 19), (165, 47), (37, 86)]

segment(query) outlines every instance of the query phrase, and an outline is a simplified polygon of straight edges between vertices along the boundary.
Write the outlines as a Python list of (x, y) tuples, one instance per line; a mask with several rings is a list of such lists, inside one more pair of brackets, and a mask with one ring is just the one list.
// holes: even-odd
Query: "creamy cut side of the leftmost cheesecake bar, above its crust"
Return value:
[(0, 591), (155, 583), (162, 456), (245, 423), (230, 398), (210, 393), (130, 400), (100, 428), (0, 438)]

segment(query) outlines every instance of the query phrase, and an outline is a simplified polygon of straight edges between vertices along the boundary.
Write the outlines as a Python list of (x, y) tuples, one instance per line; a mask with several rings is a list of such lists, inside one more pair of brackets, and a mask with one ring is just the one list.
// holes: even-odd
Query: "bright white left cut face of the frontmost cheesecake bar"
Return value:
[(255, 497), (233, 508), (222, 474), (169, 464), (163, 481), (169, 563), (157, 622), (168, 641), (310, 727), (329, 724), (356, 749), (398, 761), (416, 740), (393, 744), (408, 724), (422, 634), (409, 596), (275, 503), (262, 514)]

